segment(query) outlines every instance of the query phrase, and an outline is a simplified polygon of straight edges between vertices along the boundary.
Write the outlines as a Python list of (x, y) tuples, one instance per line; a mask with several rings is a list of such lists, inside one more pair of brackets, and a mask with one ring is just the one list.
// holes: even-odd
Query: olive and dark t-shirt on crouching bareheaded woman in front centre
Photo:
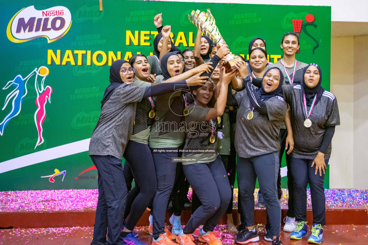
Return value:
[[(217, 148), (217, 118), (210, 121), (205, 121), (210, 108), (201, 107), (199, 105), (191, 104), (189, 107), (189, 114), (185, 116), (185, 123), (188, 130), (185, 135), (184, 149), (201, 149), (203, 151), (215, 150)], [(215, 136), (215, 143), (210, 143), (209, 139), (213, 133)], [(198, 158), (198, 162), (213, 162), (217, 158), (217, 151), (214, 154), (197, 153), (197, 154), (183, 154), (185, 158)], [(192, 162), (182, 162), (183, 165), (191, 164)]]

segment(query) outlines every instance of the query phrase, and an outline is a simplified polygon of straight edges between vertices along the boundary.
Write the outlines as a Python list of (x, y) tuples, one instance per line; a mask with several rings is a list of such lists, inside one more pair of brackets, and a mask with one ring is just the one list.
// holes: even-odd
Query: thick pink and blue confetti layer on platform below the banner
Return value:
[[(282, 189), (281, 205), (287, 205), (289, 192)], [(188, 191), (191, 200), (192, 190)], [(258, 189), (254, 198), (257, 203)], [(330, 208), (368, 208), (368, 190), (325, 189), (326, 206)], [(96, 209), (98, 190), (43, 190), (43, 191), (1, 191), (0, 212), (88, 210)], [(307, 204), (312, 205), (309, 189)], [(233, 208), (238, 208), (238, 189), (234, 188)]]

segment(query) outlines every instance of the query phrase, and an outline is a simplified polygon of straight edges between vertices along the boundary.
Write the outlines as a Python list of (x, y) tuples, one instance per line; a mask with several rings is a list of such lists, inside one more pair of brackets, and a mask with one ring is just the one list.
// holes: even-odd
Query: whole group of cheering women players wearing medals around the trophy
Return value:
[[(236, 234), (237, 244), (258, 241), (258, 179), (258, 206), (267, 211), (264, 239), (280, 245), (284, 152), (289, 209), (283, 230), (292, 232), (290, 239), (302, 239), (310, 231), (308, 242), (321, 243), (323, 180), (340, 118), (335, 96), (321, 87), (321, 67), (296, 60), (297, 33), (283, 35), (283, 57), (275, 64), (268, 62), (266, 42), (258, 37), (249, 44), (249, 60), (237, 55), (241, 61), (226, 72), (226, 43), (216, 45), (198, 30), (194, 50), (182, 52), (171, 41), (171, 26), (162, 26), (162, 14), (154, 24), (153, 55), (136, 54), (110, 67), (111, 84), (89, 145), (99, 175), (91, 244), (145, 245), (134, 227), (146, 208), (151, 210), (152, 245), (194, 245), (194, 237), (222, 245), (214, 228), (225, 212), (227, 230)], [(179, 157), (181, 162), (174, 161)], [(236, 173), (237, 228), (232, 218)], [(189, 186), (192, 216), (182, 228)], [(174, 210), (171, 231), (165, 224), (169, 202)]]

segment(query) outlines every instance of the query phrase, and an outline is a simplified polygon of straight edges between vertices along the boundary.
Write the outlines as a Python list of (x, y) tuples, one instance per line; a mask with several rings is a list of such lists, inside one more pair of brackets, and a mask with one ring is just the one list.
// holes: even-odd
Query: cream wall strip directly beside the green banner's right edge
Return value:
[[(331, 93), (339, 104), (340, 126), (332, 138), (330, 188), (354, 188), (354, 37), (331, 38)], [(340, 58), (337, 58), (340, 57)]]

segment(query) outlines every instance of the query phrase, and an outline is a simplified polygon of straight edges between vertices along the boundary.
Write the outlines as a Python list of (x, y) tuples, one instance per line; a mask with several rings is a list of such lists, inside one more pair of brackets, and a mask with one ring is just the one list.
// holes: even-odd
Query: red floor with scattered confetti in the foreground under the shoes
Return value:
[[(148, 245), (152, 243), (152, 236), (145, 231), (148, 227), (137, 227), (139, 238)], [(309, 227), (310, 228), (310, 227)], [(143, 231), (142, 231), (143, 230)], [(263, 232), (260, 232), (263, 234)], [(224, 237), (225, 234), (223, 234)], [(290, 240), (290, 233), (282, 232), (282, 242), (284, 245), (304, 245), (308, 244), (307, 238), (301, 241)], [(93, 227), (61, 227), (61, 228), (37, 228), (37, 229), (1, 229), (0, 244), (3, 245), (89, 245), (92, 241)], [(263, 240), (261, 235), (259, 242), (250, 245), (270, 245), (270, 242)], [(333, 225), (326, 226), (323, 230), (324, 245), (367, 245), (367, 226)], [(230, 239), (229, 243), (232, 244)], [(198, 244), (198, 241), (195, 242)], [(200, 243), (201, 244), (201, 243)]]

